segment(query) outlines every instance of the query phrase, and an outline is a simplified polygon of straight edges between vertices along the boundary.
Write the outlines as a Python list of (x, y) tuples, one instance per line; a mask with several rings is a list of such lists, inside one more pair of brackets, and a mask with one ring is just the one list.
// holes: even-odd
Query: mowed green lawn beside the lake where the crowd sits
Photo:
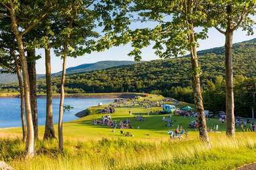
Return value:
[[(148, 100), (161, 100), (163, 99), (162, 96), (151, 95), (147, 97)], [(144, 98), (139, 99), (144, 100)], [(171, 102), (167, 102), (168, 104), (172, 104)], [(187, 104), (184, 102), (180, 102), (177, 106), (182, 107), (191, 104)], [(108, 106), (108, 105), (105, 105)], [(99, 110), (101, 110), (104, 106), (92, 106), (91, 114), (89, 116), (85, 116), (83, 118), (78, 118), (77, 120), (73, 120), (71, 122), (64, 123), (64, 135), (65, 139), (71, 140), (94, 140), (94, 139), (134, 139), (134, 140), (142, 140), (142, 141), (165, 141), (169, 140), (169, 135), (167, 131), (170, 129), (176, 129), (178, 125), (182, 124), (183, 129), (188, 129), (189, 131), (189, 138), (198, 137), (198, 131), (196, 129), (189, 129), (188, 124), (192, 120), (196, 120), (196, 118), (191, 117), (183, 117), (179, 115), (175, 115), (171, 117), (173, 120), (173, 126), (170, 128), (167, 127), (166, 122), (162, 122), (161, 119), (163, 116), (167, 118), (169, 114), (155, 114), (156, 111), (161, 111), (161, 107), (153, 107), (153, 108), (144, 108), (142, 106), (132, 106), (130, 107), (120, 107), (116, 108), (116, 112), (112, 113), (112, 119), (116, 120), (116, 122), (120, 122), (120, 120), (124, 120), (128, 118), (130, 120), (130, 125), (133, 129), (108, 129), (107, 126), (101, 125), (94, 125), (92, 121), (95, 119), (101, 118), (101, 116), (105, 114), (99, 114)], [(132, 111), (132, 115), (129, 115), (129, 110)], [(151, 113), (152, 112), (152, 113)], [(138, 121), (134, 118), (134, 115), (142, 113), (145, 120)], [(149, 115), (148, 115), (149, 113)], [(219, 126), (219, 133), (224, 133), (225, 131), (225, 124), (218, 121), (218, 118), (208, 118), (207, 119), (208, 128), (210, 129), (211, 126), (218, 124)], [(138, 126), (140, 129), (138, 129)], [(57, 126), (55, 125), (55, 128)], [(123, 137), (120, 131), (129, 132), (134, 137)], [(241, 129), (237, 129), (237, 131), (241, 131)], [(56, 129), (57, 133), (57, 129)], [(12, 129), (0, 129), (1, 135), (17, 135), (20, 136), (22, 134), (22, 129), (20, 128), (12, 128)], [(44, 126), (40, 126), (39, 129), (40, 138), (42, 138), (44, 134)], [(216, 133), (211, 133), (216, 134)], [(159, 140), (160, 139), (160, 140)]]

